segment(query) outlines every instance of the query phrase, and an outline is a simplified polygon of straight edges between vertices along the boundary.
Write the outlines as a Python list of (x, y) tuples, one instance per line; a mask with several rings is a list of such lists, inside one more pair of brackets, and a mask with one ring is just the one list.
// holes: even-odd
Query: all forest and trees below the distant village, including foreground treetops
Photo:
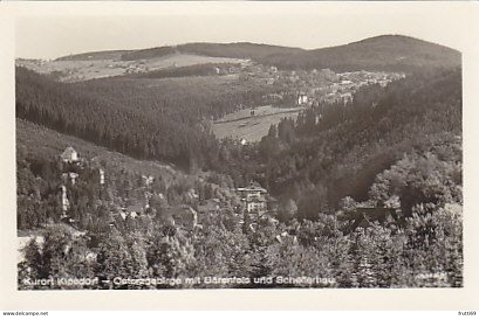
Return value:
[[(212, 121), (284, 87), (211, 65), (77, 83), (17, 67), (18, 230), (42, 236), (19, 288), (462, 287), (461, 68), (413, 66), (248, 144)], [(68, 146), (80, 163), (59, 158)], [(268, 211), (245, 210), (250, 184)], [(111, 282), (33, 282), (50, 278)]]

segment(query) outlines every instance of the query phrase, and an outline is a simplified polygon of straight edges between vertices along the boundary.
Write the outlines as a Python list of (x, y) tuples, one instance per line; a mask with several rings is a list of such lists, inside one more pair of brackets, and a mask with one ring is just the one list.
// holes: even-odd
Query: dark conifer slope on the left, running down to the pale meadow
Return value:
[(62, 84), (18, 67), (16, 116), (136, 158), (212, 168), (217, 140), (203, 119), (256, 104), (270, 90), (210, 77)]

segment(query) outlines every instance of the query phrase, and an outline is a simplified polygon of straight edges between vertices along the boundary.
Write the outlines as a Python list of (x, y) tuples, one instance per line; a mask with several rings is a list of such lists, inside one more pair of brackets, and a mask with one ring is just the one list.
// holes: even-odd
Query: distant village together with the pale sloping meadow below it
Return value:
[[(278, 124), (285, 117), (296, 118), (308, 108), (352, 104), (354, 94), (360, 88), (374, 84), (385, 87), (405, 77), (404, 73), (364, 70), (344, 73), (335, 73), (330, 69), (288, 71), (258, 63), (225, 69), (217, 67), (217, 73), (237, 74), (241, 82), (265, 84), (277, 91), (264, 94), (260, 104), (240, 104), (236, 112), (213, 122), (213, 132), (218, 138), (231, 137), (242, 145), (260, 141), (271, 125)], [(317, 121), (320, 116), (319, 113)]]

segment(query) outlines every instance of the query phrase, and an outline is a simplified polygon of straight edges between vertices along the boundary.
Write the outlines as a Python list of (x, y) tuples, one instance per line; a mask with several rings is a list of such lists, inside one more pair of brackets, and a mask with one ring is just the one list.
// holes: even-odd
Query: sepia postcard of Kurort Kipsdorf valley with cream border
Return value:
[(17, 293), (473, 281), (465, 3), (125, 6), (12, 5)]

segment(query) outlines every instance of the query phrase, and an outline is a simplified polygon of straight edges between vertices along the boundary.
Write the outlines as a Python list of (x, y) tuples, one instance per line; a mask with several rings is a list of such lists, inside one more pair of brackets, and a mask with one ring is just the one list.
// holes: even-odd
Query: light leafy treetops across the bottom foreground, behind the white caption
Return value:
[[(216, 215), (212, 215), (216, 216)], [(326, 219), (323, 219), (326, 220)], [(113, 229), (100, 236), (95, 248), (85, 248), (60, 235), (48, 237), (40, 251), (31, 243), (19, 266), (21, 289), (25, 278), (91, 277), (101, 279), (179, 278), (216, 276), (246, 277), (250, 284), (100, 284), (100, 288), (181, 287), (460, 287), (462, 286), (462, 219), (444, 208), (419, 210), (403, 228), (392, 230), (374, 224), (343, 234), (341, 222), (331, 217), (328, 228), (316, 221), (295, 224), (297, 235), (274, 236), (292, 227), (271, 226), (243, 233), (228, 231), (219, 221), (205, 224), (193, 234), (164, 230), (152, 224), (154, 233)], [(298, 238), (293, 238), (297, 236)], [(51, 238), (56, 238), (55, 240)], [(65, 245), (70, 248), (65, 252)], [(81, 253), (96, 253), (94, 261), (80, 260)], [(435, 275), (434, 275), (435, 274)], [(254, 278), (312, 276), (328, 278), (319, 284), (255, 284)], [(75, 288), (79, 288), (76, 286)], [(84, 286), (84, 288), (92, 288)], [(93, 287), (94, 288), (94, 287)]]

